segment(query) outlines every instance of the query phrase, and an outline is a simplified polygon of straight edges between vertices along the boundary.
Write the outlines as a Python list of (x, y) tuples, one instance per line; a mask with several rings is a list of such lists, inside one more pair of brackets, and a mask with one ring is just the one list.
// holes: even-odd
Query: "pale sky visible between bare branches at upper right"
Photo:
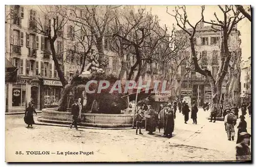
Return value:
[[(157, 5), (157, 6), (136, 6), (136, 8), (143, 7), (146, 8), (146, 10), (150, 11), (152, 9), (152, 14), (158, 15), (160, 19), (160, 26), (171, 28), (173, 23), (176, 25), (176, 20), (173, 16), (169, 15), (166, 12), (166, 7), (168, 7), (168, 12), (171, 14), (174, 14), (173, 10), (175, 9), (175, 6), (164, 6), (164, 5)], [(248, 6), (244, 6), (246, 9)], [(195, 25), (197, 21), (201, 19), (201, 6), (186, 6), (187, 16), (188, 20), (192, 23), (192, 25)], [(214, 13), (216, 12), (219, 19), (223, 19), (223, 13), (220, 10), (220, 8), (216, 5), (214, 6), (205, 6), (204, 10), (204, 19), (207, 21), (210, 21), (211, 19), (216, 20)], [(231, 14), (231, 13), (230, 13)], [(222, 17), (221, 17), (222, 16)], [(207, 26), (205, 24), (205, 26)], [(176, 26), (177, 29), (179, 29), (178, 26)], [(251, 56), (251, 22), (244, 18), (238, 23), (238, 30), (241, 33), (241, 48), (242, 48), (242, 60), (248, 59), (248, 57)]]

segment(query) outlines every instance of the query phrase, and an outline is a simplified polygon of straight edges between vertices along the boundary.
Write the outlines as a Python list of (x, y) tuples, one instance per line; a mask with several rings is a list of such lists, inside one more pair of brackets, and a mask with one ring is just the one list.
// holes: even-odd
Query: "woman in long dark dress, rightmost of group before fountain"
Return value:
[(174, 107), (169, 107), (165, 114), (164, 137), (173, 137), (174, 131)]

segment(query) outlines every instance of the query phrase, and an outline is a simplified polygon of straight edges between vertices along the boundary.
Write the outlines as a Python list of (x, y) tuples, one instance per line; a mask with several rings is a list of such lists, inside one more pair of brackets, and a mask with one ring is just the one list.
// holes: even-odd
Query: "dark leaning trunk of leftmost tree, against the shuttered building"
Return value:
[(62, 87), (65, 87), (68, 84), (68, 81), (66, 80), (64, 74), (62, 73), (62, 70), (60, 68), (57, 56), (56, 56), (56, 52), (55, 52), (55, 47), (54, 47), (54, 41), (50, 40), (50, 46), (51, 46), (51, 50), (52, 50), (52, 59), (54, 61), (54, 65), (55, 68), (57, 70), (58, 76), (59, 76), (59, 80), (62, 84)]

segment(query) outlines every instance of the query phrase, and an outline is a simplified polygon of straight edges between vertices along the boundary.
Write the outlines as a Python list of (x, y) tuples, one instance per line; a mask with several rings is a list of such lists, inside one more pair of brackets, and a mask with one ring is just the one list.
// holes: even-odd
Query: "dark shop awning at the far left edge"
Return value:
[(5, 82), (16, 82), (17, 81), (17, 68), (5, 58)]

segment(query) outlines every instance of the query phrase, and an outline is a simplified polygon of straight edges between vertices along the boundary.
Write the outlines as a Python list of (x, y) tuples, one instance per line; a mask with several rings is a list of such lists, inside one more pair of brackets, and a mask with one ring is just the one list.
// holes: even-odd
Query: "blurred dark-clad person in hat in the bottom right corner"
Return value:
[(249, 148), (251, 135), (247, 132), (240, 133), (240, 142), (236, 146), (237, 161), (251, 160), (251, 151)]

